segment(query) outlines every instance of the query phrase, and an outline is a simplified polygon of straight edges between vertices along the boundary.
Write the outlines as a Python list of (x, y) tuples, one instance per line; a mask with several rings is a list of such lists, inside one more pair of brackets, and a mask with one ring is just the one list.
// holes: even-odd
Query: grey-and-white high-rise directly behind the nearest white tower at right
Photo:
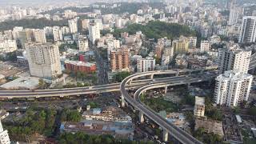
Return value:
[(219, 49), (219, 73), (223, 74), (227, 70), (238, 70), (238, 72), (247, 73), (250, 64), (250, 55), (250, 50), (242, 50), (238, 46)]

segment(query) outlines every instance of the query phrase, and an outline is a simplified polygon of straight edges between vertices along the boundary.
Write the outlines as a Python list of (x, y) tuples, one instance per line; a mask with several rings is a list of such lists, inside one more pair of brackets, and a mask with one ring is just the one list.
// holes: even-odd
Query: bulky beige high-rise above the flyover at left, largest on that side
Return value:
[(52, 79), (62, 74), (57, 45), (27, 43), (26, 54), (32, 76)]

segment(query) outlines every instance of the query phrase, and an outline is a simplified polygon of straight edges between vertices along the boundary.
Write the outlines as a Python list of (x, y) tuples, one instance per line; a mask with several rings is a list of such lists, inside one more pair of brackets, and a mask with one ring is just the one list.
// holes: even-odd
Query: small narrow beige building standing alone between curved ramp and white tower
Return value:
[(195, 97), (194, 116), (198, 118), (205, 116), (205, 98)]

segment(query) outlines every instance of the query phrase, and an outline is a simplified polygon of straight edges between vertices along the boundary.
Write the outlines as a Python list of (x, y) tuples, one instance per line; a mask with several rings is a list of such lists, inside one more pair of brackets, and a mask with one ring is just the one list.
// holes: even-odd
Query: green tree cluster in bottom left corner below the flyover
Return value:
[(26, 110), (26, 116), (18, 122), (3, 124), (9, 131), (10, 139), (24, 141), (24, 139), (28, 139), (32, 134), (36, 133), (44, 134), (45, 136), (53, 134), (56, 115), (56, 110), (46, 109), (37, 111), (30, 108)]

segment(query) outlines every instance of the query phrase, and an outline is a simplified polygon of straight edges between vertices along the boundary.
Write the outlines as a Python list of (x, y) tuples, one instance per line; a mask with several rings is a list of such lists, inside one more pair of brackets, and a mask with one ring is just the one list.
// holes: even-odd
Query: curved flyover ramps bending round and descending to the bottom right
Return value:
[[(143, 105), (142, 102), (139, 101), (138, 96), (134, 98), (131, 97), (126, 91), (126, 85), (129, 84), (129, 86), (133, 86), (132, 82), (135, 78), (141, 78), (146, 76), (150, 76), (150, 79), (154, 79), (154, 75), (158, 75), (158, 74), (175, 74), (175, 76), (178, 76), (179, 74), (182, 74), (182, 73), (192, 74), (193, 72), (197, 72), (199, 74), (204, 74), (204, 72), (206, 72), (206, 74), (208, 74), (209, 73), (208, 71), (210, 70), (217, 70), (217, 67), (207, 67), (206, 69), (202, 69), (202, 70), (162, 70), (162, 71), (158, 70), (158, 71), (149, 71), (145, 73), (130, 75), (129, 77), (125, 78), (120, 85), (120, 90), (122, 94), (121, 96), (122, 106), (125, 106), (125, 101), (128, 102), (131, 106), (134, 106), (135, 110), (139, 110), (139, 118), (141, 121), (143, 120), (143, 115), (145, 114), (148, 118), (156, 122), (158, 126), (161, 126), (163, 129), (164, 141), (167, 141), (168, 134), (172, 134), (174, 138), (176, 138), (179, 142), (182, 142), (185, 144), (190, 144), (190, 143), (202, 144), (202, 142), (198, 141), (196, 138), (186, 133), (184, 130), (181, 130), (177, 126), (174, 126), (170, 122), (167, 122), (166, 119), (156, 114), (154, 110), (151, 110), (149, 107)], [(215, 76), (216, 76), (216, 73), (210, 74), (210, 76), (206, 78), (202, 77), (202, 75), (198, 75), (197, 78), (193, 78), (192, 75), (190, 75), (185, 77), (189, 79), (192, 78), (191, 80), (183, 79), (183, 80), (177, 80), (177, 81), (174, 80), (170, 82), (158, 82), (154, 84), (153, 88), (155, 88), (155, 86), (166, 87), (166, 86), (172, 86), (172, 85), (182, 85), (182, 84), (190, 84), (194, 82), (202, 82), (202, 81), (209, 80), (209, 78), (214, 78)], [(145, 87), (148, 87), (149, 89), (151, 89), (151, 86), (145, 86)], [(145, 87), (142, 87), (143, 89), (141, 88), (141, 92), (142, 90), (145, 89)], [(137, 90), (137, 95), (141, 94), (141, 92), (138, 92)]]

